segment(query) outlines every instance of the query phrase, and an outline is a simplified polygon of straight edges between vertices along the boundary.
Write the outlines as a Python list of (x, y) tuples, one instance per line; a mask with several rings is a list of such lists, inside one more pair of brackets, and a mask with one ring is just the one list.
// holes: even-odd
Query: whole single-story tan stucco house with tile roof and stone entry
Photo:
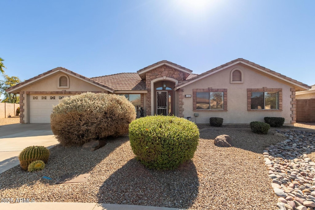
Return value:
[(63, 97), (84, 92), (125, 95), (140, 115), (190, 117), (209, 123), (222, 117), (225, 124), (261, 121), (265, 116), (296, 121), (295, 92), (310, 87), (242, 58), (202, 74), (159, 61), (136, 73), (84, 77), (63, 67), (46, 71), (9, 89), (20, 94), (21, 123), (49, 123), (53, 105)]

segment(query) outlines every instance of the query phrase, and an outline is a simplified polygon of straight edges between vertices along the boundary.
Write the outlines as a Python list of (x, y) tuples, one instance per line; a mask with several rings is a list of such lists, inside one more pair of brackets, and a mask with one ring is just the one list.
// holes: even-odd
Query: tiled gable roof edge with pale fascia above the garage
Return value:
[(104, 88), (104, 89), (106, 89), (107, 91), (109, 91), (109, 92), (111, 92), (111, 93), (114, 92), (114, 89), (112, 89), (112, 88), (110, 88), (110, 87), (108, 87), (108, 86), (106, 86), (106, 85), (104, 85), (104, 84), (101, 84), (101, 83), (99, 83), (99, 82), (96, 82), (96, 81), (94, 81), (94, 80), (91, 80), (91, 79), (88, 78), (88, 77), (84, 77), (84, 76), (81, 75), (81, 74), (77, 74), (76, 72), (70, 71), (69, 69), (66, 69), (66, 68), (63, 68), (63, 67), (57, 67), (57, 68), (54, 68), (54, 69), (52, 69), (52, 70), (46, 71), (46, 72), (44, 72), (44, 73), (42, 73), (42, 74), (40, 74), (40, 75), (37, 75), (36, 77), (32, 77), (32, 78), (30, 78), (30, 79), (28, 79), (28, 80), (25, 80), (25, 81), (23, 81), (23, 82), (21, 82), (21, 83), (19, 83), (19, 84), (17, 84), (17, 85), (12, 86), (11, 88), (6, 89), (6, 91), (7, 91), (8, 93), (13, 93), (15, 90), (17, 90), (17, 89), (19, 89), (19, 88), (22, 88), (22, 87), (24, 87), (24, 86), (26, 86), (26, 85), (29, 85), (29, 84), (31, 84), (31, 83), (33, 83), (33, 82), (36, 82), (36, 81), (38, 81), (38, 80), (40, 80), (40, 79), (42, 79), (42, 78), (44, 78), (44, 77), (47, 77), (47, 76), (49, 76), (49, 75), (52, 75), (52, 74), (56, 73), (57, 71), (61, 71), (61, 72), (64, 72), (64, 73), (66, 73), (66, 74), (72, 75), (73, 77), (77, 77), (77, 78), (79, 78), (79, 79), (81, 79), (81, 80), (84, 80), (84, 81), (86, 81), (86, 82), (89, 82), (89, 83), (91, 83), (91, 84), (94, 84), (94, 85), (96, 85), (96, 86), (99, 86), (99, 87), (101, 87), (101, 88)]

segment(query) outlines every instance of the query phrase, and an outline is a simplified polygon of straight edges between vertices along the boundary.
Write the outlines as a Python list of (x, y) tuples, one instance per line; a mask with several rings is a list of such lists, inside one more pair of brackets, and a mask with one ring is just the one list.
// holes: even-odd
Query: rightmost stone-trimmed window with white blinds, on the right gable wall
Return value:
[(250, 109), (278, 109), (278, 92), (251, 92)]

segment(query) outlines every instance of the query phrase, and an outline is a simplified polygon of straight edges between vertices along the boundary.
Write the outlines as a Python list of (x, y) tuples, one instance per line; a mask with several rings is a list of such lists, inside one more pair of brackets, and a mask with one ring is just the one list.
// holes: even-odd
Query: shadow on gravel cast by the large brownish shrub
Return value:
[(23, 185), (36, 185), (38, 181), (43, 184), (53, 185), (65, 174), (89, 173), (113, 150), (128, 140), (124, 136), (108, 139), (104, 147), (93, 152), (83, 150), (81, 146), (64, 147), (56, 145), (49, 150), (49, 160), (43, 170), (30, 173), (24, 171), (18, 165), (1, 173), (0, 191), (15, 189)]

